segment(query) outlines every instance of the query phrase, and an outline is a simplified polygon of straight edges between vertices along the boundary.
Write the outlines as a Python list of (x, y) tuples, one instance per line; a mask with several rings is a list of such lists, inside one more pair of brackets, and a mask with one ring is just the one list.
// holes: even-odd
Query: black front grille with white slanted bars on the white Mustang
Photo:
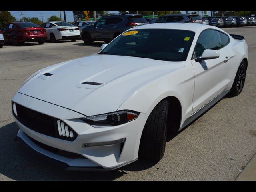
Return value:
[(76, 139), (76, 132), (61, 120), (26, 108), (17, 103), (15, 103), (15, 106), (16, 112), (14, 112), (14, 103), (12, 103), (14, 116), (27, 128), (63, 140), (74, 141)]

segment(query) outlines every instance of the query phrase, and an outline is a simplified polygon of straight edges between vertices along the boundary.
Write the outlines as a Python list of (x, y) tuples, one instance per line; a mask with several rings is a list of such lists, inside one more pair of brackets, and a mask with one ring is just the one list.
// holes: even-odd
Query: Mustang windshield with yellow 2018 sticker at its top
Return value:
[(124, 32), (99, 54), (185, 61), (195, 33), (174, 29), (138, 29)]

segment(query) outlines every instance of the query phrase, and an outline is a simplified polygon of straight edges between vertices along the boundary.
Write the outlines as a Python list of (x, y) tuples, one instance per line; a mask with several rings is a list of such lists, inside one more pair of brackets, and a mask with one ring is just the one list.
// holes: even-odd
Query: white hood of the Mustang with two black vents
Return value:
[(41, 70), (18, 92), (90, 116), (116, 111), (143, 85), (183, 67), (183, 62), (95, 54)]

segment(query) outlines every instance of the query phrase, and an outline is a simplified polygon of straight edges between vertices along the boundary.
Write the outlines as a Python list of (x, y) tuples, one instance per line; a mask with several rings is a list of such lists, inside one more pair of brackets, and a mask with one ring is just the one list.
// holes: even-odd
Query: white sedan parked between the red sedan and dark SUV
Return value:
[(61, 39), (76, 41), (80, 38), (79, 28), (68, 22), (50, 21), (44, 22), (40, 26), (46, 30), (47, 39), (51, 42)]

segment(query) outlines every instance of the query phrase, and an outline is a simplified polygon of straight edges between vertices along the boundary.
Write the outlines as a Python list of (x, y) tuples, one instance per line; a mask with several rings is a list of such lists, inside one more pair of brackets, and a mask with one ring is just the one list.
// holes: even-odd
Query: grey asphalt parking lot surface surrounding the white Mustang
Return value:
[(226, 28), (243, 35), (249, 64), (242, 93), (226, 96), (179, 134), (170, 134), (158, 163), (138, 160), (113, 172), (66, 172), (14, 141), (11, 98), (34, 72), (94, 54), (103, 42), (82, 40), (0, 49), (0, 180), (235, 180), (256, 153), (256, 27)]

